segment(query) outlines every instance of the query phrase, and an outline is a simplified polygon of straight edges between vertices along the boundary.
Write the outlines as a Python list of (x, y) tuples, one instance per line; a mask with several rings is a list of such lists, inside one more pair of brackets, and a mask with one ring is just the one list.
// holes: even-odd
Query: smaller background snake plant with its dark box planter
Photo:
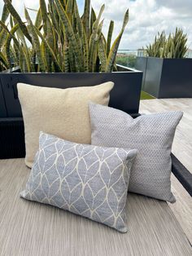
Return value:
[(146, 57), (137, 57), (137, 69), (143, 71), (142, 90), (156, 98), (192, 97), (192, 59), (185, 58), (187, 37), (182, 29), (158, 34), (146, 46)]

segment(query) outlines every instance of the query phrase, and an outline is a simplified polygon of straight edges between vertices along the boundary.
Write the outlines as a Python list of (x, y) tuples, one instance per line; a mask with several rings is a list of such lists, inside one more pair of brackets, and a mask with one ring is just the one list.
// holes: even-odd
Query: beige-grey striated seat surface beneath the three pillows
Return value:
[(175, 256), (192, 249), (164, 201), (129, 194), (122, 234), (67, 211), (20, 198), (24, 159), (0, 160), (1, 256)]

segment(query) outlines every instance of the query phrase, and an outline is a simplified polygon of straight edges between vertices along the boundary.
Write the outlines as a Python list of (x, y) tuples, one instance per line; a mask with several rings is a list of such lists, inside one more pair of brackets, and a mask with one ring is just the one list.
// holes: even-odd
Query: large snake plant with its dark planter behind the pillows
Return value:
[[(116, 86), (122, 87), (122, 95), (127, 94), (129, 108), (124, 110), (137, 113), (142, 73), (130, 71), (129, 68), (124, 68), (123, 72), (121, 68), (121, 72), (118, 72), (116, 65), (116, 52), (129, 20), (128, 10), (120, 33), (111, 46), (114, 22), (111, 21), (105, 38), (101, 20), (104, 5), (97, 16), (90, 8), (90, 0), (85, 0), (84, 13), (80, 16), (76, 0), (50, 0), (48, 5), (45, 0), (40, 0), (33, 23), (28, 8), (24, 8), (24, 22), (11, 1), (4, 2), (0, 21), (0, 62), (3, 68), (19, 65), (21, 69), (21, 73), (0, 75), (4, 99), (8, 101), (5, 103), (7, 117), (21, 115), (16, 83), (28, 82), (38, 86), (42, 83), (42, 77), (44, 81), (46, 79), (46, 86), (62, 88), (66, 85), (91, 86), (113, 81)], [(7, 26), (7, 20), (11, 29)], [(111, 100), (117, 98), (116, 86)], [(120, 102), (119, 93), (118, 97)]]

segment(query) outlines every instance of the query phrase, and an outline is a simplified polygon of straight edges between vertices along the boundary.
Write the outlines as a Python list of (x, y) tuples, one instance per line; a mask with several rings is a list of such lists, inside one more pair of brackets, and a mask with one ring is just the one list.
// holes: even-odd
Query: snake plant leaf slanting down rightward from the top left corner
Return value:
[(24, 36), (26, 38), (28, 38), (29, 42), (32, 42), (32, 38), (30, 37), (30, 35), (28, 33), (27, 27), (25, 26), (24, 22), (20, 19), (20, 15), (17, 13), (15, 8), (12, 6), (11, 1), (10, 0), (3, 0), (3, 1), (5, 2), (5, 5), (6, 5), (7, 9), (10, 11), (11, 15), (15, 18), (17, 23), (20, 24), (20, 29), (23, 31)]

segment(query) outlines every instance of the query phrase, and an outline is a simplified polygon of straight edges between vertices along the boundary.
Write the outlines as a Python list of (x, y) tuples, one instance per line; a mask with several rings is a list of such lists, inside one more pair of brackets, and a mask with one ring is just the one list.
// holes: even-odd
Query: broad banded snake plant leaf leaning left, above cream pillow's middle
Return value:
[(81, 64), (81, 54), (79, 52), (79, 46), (76, 42), (76, 36), (74, 34), (74, 31), (72, 29), (72, 24), (70, 23), (70, 20), (68, 19), (68, 15), (66, 11), (64, 11), (62, 4), (59, 0), (55, 0), (57, 11), (59, 13), (59, 17), (63, 23), (63, 26), (66, 30), (66, 33), (68, 34), (68, 41), (72, 46), (72, 52), (75, 55), (75, 62), (76, 62), (76, 71), (80, 72), (82, 70), (82, 64)]

